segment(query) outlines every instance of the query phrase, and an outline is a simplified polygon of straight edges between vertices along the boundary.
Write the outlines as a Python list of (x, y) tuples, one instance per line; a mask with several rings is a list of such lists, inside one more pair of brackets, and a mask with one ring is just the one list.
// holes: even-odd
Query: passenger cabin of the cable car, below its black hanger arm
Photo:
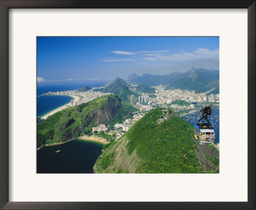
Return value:
[(215, 140), (215, 132), (213, 128), (199, 128), (198, 125), (195, 124), (195, 138), (200, 143), (213, 143)]

